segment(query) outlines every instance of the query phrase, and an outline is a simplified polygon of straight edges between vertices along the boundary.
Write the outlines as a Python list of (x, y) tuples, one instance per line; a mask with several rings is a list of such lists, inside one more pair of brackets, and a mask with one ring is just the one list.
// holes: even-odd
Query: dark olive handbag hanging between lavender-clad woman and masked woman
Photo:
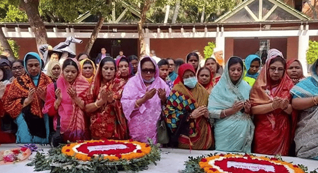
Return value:
[(163, 112), (161, 113), (161, 118), (157, 122), (157, 143), (168, 144), (169, 143), (169, 132)]

